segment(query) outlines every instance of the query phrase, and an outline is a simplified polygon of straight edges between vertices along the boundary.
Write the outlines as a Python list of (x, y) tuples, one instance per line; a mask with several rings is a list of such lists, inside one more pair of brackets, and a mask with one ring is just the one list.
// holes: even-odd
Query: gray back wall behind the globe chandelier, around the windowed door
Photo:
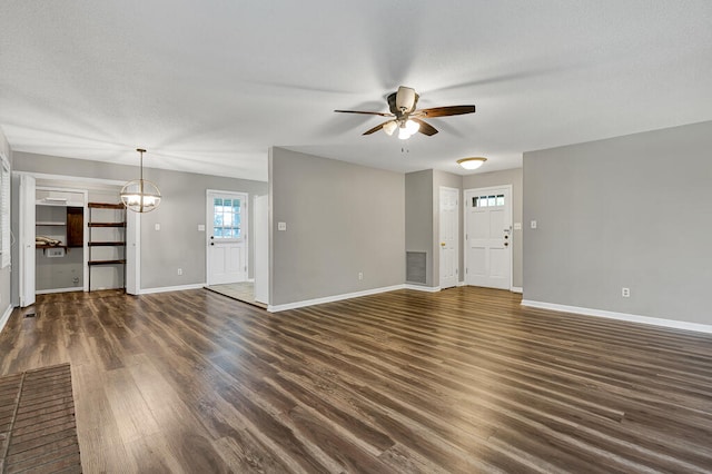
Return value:
[[(17, 171), (119, 181), (136, 179), (138, 176), (137, 166), (26, 152), (16, 152), (13, 160), (13, 169)], [(150, 155), (147, 156), (148, 160)], [(198, 224), (206, 224), (206, 189), (244, 191), (250, 196), (267, 194), (267, 184), (260, 181), (162, 169), (145, 169), (144, 174), (146, 179), (158, 184), (162, 201), (158, 209), (140, 217), (142, 289), (206, 282), (206, 234), (198, 231)], [(253, 213), (250, 220), (251, 215)], [(155, 224), (160, 224), (160, 230), (154, 229)], [(250, 221), (250, 234), (251, 228)], [(251, 241), (251, 235), (248, 235), (248, 240)], [(249, 248), (249, 275), (253, 275), (253, 246)], [(178, 268), (182, 268), (182, 276), (177, 275)]]

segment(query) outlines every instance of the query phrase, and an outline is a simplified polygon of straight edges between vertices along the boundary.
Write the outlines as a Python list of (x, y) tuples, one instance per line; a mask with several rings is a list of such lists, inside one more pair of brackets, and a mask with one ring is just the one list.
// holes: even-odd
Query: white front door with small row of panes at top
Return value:
[(465, 283), (512, 286), (512, 187), (465, 191)]

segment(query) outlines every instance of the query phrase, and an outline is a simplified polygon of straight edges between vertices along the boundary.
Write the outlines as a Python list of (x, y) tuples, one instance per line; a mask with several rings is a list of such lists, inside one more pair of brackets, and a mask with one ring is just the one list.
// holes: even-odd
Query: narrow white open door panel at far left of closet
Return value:
[(20, 175), (20, 307), (34, 304), (36, 180)]

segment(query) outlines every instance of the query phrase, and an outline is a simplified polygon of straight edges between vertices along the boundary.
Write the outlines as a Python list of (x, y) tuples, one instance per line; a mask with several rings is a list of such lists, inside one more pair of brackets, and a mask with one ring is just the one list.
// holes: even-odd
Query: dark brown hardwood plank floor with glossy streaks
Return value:
[(71, 363), (87, 473), (712, 471), (712, 336), (520, 300), (44, 295), (0, 375)]

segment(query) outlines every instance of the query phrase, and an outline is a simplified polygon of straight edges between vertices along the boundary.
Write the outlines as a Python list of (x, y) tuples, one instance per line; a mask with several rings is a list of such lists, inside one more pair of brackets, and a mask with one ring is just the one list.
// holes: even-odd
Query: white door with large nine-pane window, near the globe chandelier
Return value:
[(208, 190), (207, 283), (247, 279), (247, 194)]

